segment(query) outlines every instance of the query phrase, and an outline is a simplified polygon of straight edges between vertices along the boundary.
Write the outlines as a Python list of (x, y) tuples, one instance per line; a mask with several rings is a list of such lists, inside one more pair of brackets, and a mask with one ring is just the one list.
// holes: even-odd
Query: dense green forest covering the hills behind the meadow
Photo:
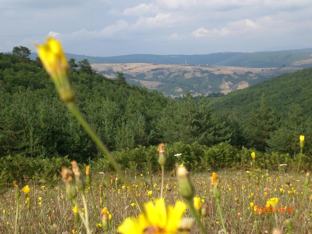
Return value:
[[(41, 62), (30, 60), (21, 50), (0, 53), (0, 157), (68, 155), (86, 162), (100, 156), (100, 150), (58, 99)], [(112, 151), (160, 142), (196, 142), (208, 147), (223, 143), (236, 149), (251, 147), (293, 157), (300, 150), (299, 135), (304, 134), (305, 153), (312, 153), (307, 103), (311, 100), (307, 90), (311, 90), (312, 69), (218, 97), (211, 105), (211, 99), (194, 99), (189, 92), (177, 101), (128, 85), (122, 73), (116, 80), (107, 79), (96, 74), (87, 59), (76, 63), (72, 58), (69, 66), (77, 105)]]

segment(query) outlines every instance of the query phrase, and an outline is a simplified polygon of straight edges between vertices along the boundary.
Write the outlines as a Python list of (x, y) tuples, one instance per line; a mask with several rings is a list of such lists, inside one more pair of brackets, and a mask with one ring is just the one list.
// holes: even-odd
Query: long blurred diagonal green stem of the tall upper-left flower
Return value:
[(138, 197), (135, 195), (133, 189), (130, 186), (129, 181), (127, 178), (124, 176), (123, 171), (121, 170), (119, 164), (116, 162), (115, 158), (111, 155), (110, 150), (107, 149), (105, 144), (100, 140), (97, 134), (90, 128), (89, 124), (85, 120), (85, 118), (82, 116), (80, 111), (78, 110), (76, 104), (74, 102), (68, 102), (66, 103), (68, 109), (75, 115), (75, 117), (78, 119), (80, 122), (81, 126), (85, 129), (85, 131), (89, 134), (89, 136), (92, 138), (92, 140), (100, 147), (100, 149), (103, 151), (103, 153), (106, 155), (110, 163), (113, 165), (117, 173), (119, 174), (120, 178), (123, 180), (124, 184), (126, 187), (129, 189), (132, 197), (134, 198), (135, 202), (137, 203), (140, 212), (144, 213), (144, 208), (142, 204), (139, 202)]

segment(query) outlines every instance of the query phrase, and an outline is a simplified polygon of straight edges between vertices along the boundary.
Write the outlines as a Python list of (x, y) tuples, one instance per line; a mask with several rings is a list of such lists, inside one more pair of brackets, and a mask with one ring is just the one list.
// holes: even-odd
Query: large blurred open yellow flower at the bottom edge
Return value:
[(144, 214), (138, 219), (127, 218), (117, 228), (122, 234), (175, 234), (181, 225), (181, 218), (186, 210), (186, 204), (177, 201), (175, 206), (168, 206), (167, 210), (163, 199), (144, 204)]

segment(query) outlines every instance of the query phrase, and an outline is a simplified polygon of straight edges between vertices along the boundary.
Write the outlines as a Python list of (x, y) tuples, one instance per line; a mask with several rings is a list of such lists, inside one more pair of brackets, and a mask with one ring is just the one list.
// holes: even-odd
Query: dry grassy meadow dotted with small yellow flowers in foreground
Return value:
[[(311, 183), (299, 217), (295, 221), (295, 210), (300, 207), (305, 176), (297, 177), (295, 173), (284, 173), (282, 170), (270, 172), (268, 177), (265, 173), (246, 173), (246, 171), (223, 170), (217, 174), (221, 190), (222, 213), (225, 226), (230, 233), (257, 233), (255, 221), (257, 221), (258, 233), (269, 233), (270, 220), (271, 230), (273, 227), (278, 227), (283, 230), (282, 233), (290, 233), (286, 230), (286, 219), (292, 220), (293, 233), (312, 233)], [(191, 173), (190, 178), (195, 187), (195, 196), (202, 199), (203, 206), (207, 206), (207, 218), (205, 219), (208, 233), (219, 233), (222, 231), (222, 226), (216, 201), (212, 195), (210, 176), (211, 172), (208, 170), (205, 173)], [(259, 185), (256, 185), (256, 177), (259, 178)], [(142, 172), (142, 175), (137, 174), (135, 177), (128, 175), (128, 178), (140, 201), (147, 202), (159, 197), (160, 175)], [(72, 208), (74, 204), (66, 197), (63, 182), (51, 185), (44, 181), (29, 180), (23, 186), (26, 184), (30, 191), (27, 194), (28, 198), (21, 191), (21, 205), (17, 222), (18, 233), (85, 233), (85, 227), (81, 220), (75, 222)], [(85, 189), (89, 223), (93, 233), (104, 233), (101, 230), (100, 212), (102, 207), (99, 185), (103, 189), (104, 207), (107, 207), (111, 214), (109, 233), (115, 233), (116, 227), (126, 217), (136, 217), (139, 209), (134, 204), (127, 188), (123, 187), (123, 183), (118, 180), (115, 184), (114, 174), (93, 173), (92, 188), (95, 210), (92, 209), (90, 189)], [(179, 195), (174, 173), (167, 173), (165, 185), (166, 205), (183, 200)], [(22, 190), (22, 185), (20, 185), (20, 189)], [(149, 191), (152, 191), (151, 196), (148, 195), (151, 193)], [(262, 209), (259, 208), (259, 214), (255, 214), (254, 206), (265, 207), (267, 199), (275, 197), (279, 199), (276, 213), (273, 212), (269, 215), (265, 214), (266, 211), (263, 210), (264, 213), (260, 214)], [(81, 201), (79, 193), (77, 201)], [(83, 207), (81, 202), (80, 207)], [(283, 208), (279, 210), (279, 207)], [(13, 187), (8, 188), (1, 196), (0, 209), (0, 233), (15, 233), (16, 198)], [(185, 216), (192, 217), (188, 210)], [(197, 225), (193, 225), (191, 233), (200, 233)]]

